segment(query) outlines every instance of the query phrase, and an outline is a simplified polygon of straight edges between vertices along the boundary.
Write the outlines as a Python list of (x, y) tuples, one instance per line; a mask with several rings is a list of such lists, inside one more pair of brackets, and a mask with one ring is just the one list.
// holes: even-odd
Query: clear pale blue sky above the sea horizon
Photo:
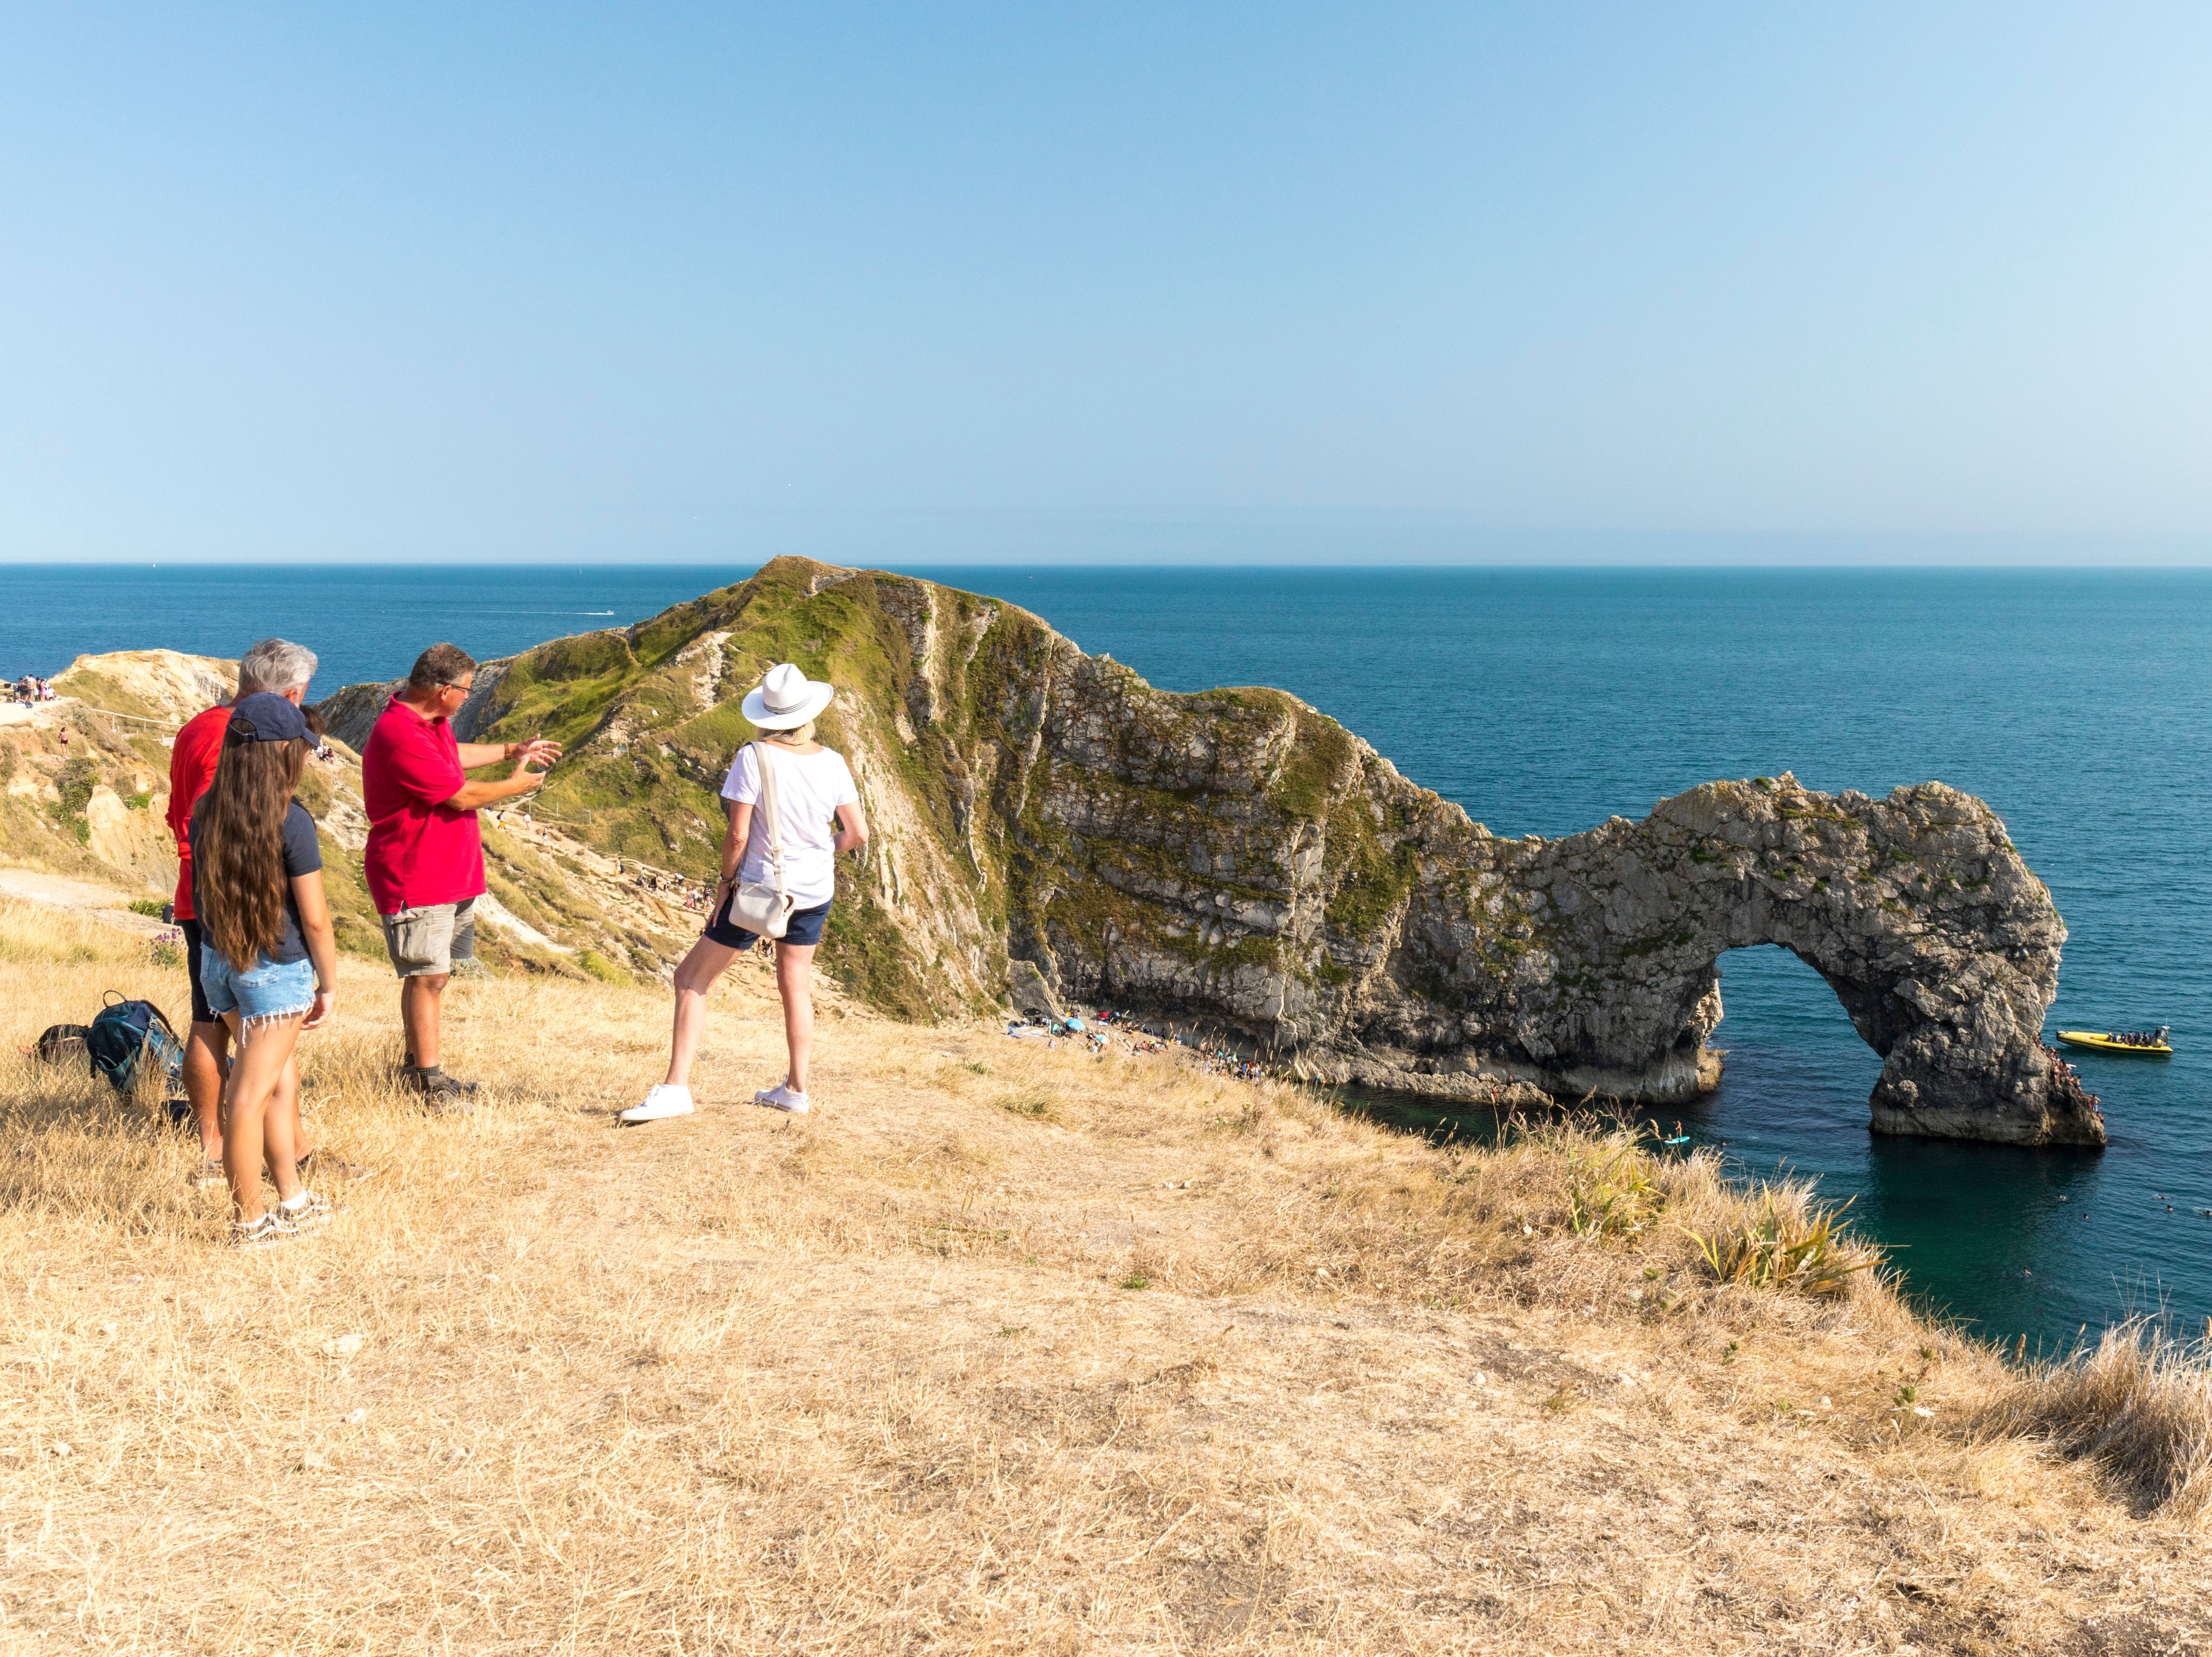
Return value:
[(2212, 562), (2197, 4), (0, 4), (0, 560)]

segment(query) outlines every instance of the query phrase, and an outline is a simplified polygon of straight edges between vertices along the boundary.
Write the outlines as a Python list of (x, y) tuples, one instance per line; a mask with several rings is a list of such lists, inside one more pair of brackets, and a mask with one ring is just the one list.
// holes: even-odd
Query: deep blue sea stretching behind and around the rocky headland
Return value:
[[(750, 569), (0, 566), (0, 675), (84, 650), (237, 655), (319, 690), (635, 622)], [(2070, 927), (2051, 1029), (2172, 1024), (2170, 1062), (2077, 1055), (2104, 1153), (1867, 1133), (1880, 1060), (1781, 949), (1721, 960), (1719, 1093), (1745, 1173), (1801, 1173), (1913, 1294), (2062, 1349), (2130, 1312), (2212, 1319), (2212, 573), (914, 569), (1046, 617), (1172, 690), (1272, 684), (1495, 834), (1571, 834), (1714, 777), (1986, 799)], [(1668, 1113), (1670, 1119), (1677, 1113)]]

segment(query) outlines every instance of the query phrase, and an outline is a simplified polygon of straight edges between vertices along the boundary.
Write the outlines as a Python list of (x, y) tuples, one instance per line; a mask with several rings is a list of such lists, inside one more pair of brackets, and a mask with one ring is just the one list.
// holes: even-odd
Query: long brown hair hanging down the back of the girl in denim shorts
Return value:
[(192, 834), (199, 927), (234, 971), (252, 971), (283, 931), (283, 819), (307, 743), (226, 741)]

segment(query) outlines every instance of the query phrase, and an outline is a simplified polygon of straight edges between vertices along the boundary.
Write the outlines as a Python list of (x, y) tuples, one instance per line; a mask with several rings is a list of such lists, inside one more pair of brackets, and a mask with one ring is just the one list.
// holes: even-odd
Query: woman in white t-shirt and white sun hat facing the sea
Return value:
[(706, 934), (677, 967), (677, 1024), (668, 1044), (668, 1077), (646, 1102), (622, 1113), (624, 1122), (659, 1122), (692, 1113), (690, 1062), (699, 1051), (706, 996), (723, 969), (759, 938), (730, 916), (739, 880), (768, 885), (768, 825), (761, 803), (761, 765), (774, 768), (776, 825), (783, 832), (783, 889), (796, 903), (776, 940), (776, 991), (783, 996), (783, 1040), (792, 1066), (783, 1082), (752, 1095), (754, 1104), (803, 1115), (807, 1108), (807, 1049), (814, 1042), (814, 1002), (807, 980), (814, 947), (823, 940), (830, 903), (836, 898), (836, 854), (867, 845), (867, 816), (852, 785), (845, 757), (814, 741), (814, 717), (836, 695), (785, 661), (770, 668), (743, 701), (745, 719), (761, 741), (737, 750), (737, 763), (721, 785), (730, 830), (721, 836), (721, 883), (708, 905)]

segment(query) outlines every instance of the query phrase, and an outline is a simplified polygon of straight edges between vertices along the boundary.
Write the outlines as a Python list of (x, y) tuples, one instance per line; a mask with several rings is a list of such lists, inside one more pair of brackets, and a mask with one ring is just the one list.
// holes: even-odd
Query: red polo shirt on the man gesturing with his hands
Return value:
[(361, 799), (369, 810), (363, 863), (376, 914), (482, 896), (476, 812), (445, 803), (467, 781), (453, 726), (392, 697), (361, 750)]

